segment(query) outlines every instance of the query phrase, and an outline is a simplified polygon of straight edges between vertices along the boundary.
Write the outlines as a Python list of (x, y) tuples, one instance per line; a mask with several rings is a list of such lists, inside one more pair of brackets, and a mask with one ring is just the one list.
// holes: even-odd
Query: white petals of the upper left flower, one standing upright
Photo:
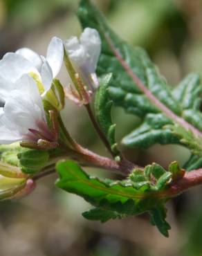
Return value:
[(10, 97), (11, 90), (21, 87), (21, 84), (15, 82), (24, 74), (36, 75), (42, 82), (44, 90), (48, 91), (53, 78), (62, 66), (63, 55), (63, 43), (57, 37), (51, 39), (46, 57), (39, 56), (29, 48), (21, 48), (16, 53), (6, 53), (0, 61), (1, 100)]

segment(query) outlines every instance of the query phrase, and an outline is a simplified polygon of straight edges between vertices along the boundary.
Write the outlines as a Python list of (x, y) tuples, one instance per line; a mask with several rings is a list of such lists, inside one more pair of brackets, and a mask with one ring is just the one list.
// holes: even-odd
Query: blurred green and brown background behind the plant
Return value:
[[(147, 49), (160, 72), (175, 86), (189, 72), (202, 75), (201, 0), (96, 0), (111, 26), (124, 39)], [(66, 39), (80, 34), (75, 15), (78, 0), (0, 0), (0, 55), (27, 46), (45, 55), (54, 35)], [(65, 69), (61, 80), (66, 82)], [(67, 102), (63, 113), (77, 140), (107, 154), (83, 109)], [(113, 109), (117, 138), (138, 120)], [(82, 131), (82, 133), (80, 133)], [(123, 149), (132, 161), (156, 161), (167, 167), (185, 163), (183, 147), (156, 145), (147, 151)], [(89, 170), (89, 172), (93, 172)], [(97, 171), (99, 176), (107, 172)], [(172, 230), (164, 238), (145, 214), (101, 224), (81, 213), (88, 203), (55, 188), (57, 176), (38, 182), (26, 199), (0, 203), (0, 256), (201, 256), (202, 188), (194, 188), (167, 205)]]

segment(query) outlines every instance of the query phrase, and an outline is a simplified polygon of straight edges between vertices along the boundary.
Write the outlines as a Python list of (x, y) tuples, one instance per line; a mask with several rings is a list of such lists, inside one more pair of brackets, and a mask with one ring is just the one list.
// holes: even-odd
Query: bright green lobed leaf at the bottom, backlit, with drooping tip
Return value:
[(57, 187), (82, 196), (95, 206), (95, 209), (84, 212), (87, 219), (104, 222), (152, 211), (153, 222), (163, 235), (168, 236), (169, 225), (162, 214), (168, 198), (161, 196), (161, 192), (165, 192), (172, 181), (183, 177), (176, 162), (169, 165), (169, 171), (157, 164), (147, 165), (144, 170), (134, 170), (123, 181), (89, 176), (70, 160), (57, 163), (56, 170), (59, 174)]

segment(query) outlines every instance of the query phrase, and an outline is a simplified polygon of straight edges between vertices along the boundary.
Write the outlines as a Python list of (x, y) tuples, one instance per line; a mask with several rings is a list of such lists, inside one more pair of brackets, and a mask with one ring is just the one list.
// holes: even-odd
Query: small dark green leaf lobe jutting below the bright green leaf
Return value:
[(110, 210), (102, 210), (100, 208), (94, 208), (87, 212), (82, 213), (83, 217), (89, 219), (91, 221), (101, 221), (106, 222), (109, 219), (121, 219), (122, 215), (118, 214), (118, 212), (110, 211)]

